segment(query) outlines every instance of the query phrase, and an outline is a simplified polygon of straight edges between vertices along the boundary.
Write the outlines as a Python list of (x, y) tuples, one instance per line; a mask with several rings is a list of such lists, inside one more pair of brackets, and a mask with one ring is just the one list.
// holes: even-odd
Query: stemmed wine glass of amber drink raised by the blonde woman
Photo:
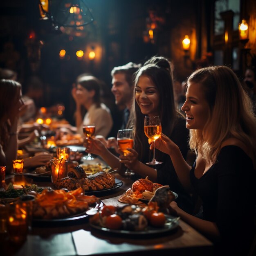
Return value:
[(146, 136), (153, 141), (153, 159), (146, 164), (162, 164), (155, 159), (155, 140), (158, 139), (162, 132), (162, 126), (159, 116), (151, 116), (144, 118), (144, 132)]

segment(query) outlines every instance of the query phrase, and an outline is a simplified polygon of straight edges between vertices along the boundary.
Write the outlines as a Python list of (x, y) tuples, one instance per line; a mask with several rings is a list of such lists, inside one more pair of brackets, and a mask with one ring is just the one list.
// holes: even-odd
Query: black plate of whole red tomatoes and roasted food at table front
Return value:
[(179, 225), (178, 219), (179, 217), (159, 211), (157, 202), (151, 202), (147, 206), (104, 205), (94, 216), (90, 216), (89, 222), (93, 229), (100, 231), (118, 235), (144, 236), (159, 235), (176, 229)]

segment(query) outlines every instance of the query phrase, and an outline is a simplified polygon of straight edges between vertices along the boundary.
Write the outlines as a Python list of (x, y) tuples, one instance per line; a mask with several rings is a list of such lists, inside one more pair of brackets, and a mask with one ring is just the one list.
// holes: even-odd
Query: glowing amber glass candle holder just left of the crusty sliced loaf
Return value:
[(52, 183), (67, 177), (67, 163), (68, 160), (63, 158), (50, 160), (52, 169)]

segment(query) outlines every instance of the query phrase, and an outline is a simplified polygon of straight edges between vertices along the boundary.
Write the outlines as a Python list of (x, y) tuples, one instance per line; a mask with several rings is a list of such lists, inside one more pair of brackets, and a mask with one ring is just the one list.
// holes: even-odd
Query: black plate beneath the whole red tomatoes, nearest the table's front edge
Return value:
[(136, 238), (144, 238), (145, 235), (156, 235), (156, 234), (164, 234), (166, 232), (169, 232), (171, 230), (176, 229), (179, 226), (179, 221), (174, 220), (175, 217), (166, 215), (166, 224), (164, 227), (151, 227), (148, 226), (146, 230), (144, 231), (129, 231), (129, 230), (117, 230), (117, 229), (107, 229), (105, 227), (100, 227), (97, 225), (93, 225), (90, 223), (91, 227), (97, 230), (117, 234), (117, 235), (132, 235), (136, 236)]

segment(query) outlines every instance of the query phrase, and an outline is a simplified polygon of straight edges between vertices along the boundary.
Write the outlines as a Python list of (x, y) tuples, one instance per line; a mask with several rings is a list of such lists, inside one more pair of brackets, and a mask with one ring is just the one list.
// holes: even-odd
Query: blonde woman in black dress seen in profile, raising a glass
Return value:
[(200, 195), (202, 207), (197, 216), (175, 202), (170, 207), (213, 240), (217, 255), (247, 255), (256, 204), (256, 119), (250, 99), (230, 68), (206, 67), (189, 77), (182, 111), (197, 155), (193, 167), (164, 134), (155, 146), (170, 155), (183, 186)]

